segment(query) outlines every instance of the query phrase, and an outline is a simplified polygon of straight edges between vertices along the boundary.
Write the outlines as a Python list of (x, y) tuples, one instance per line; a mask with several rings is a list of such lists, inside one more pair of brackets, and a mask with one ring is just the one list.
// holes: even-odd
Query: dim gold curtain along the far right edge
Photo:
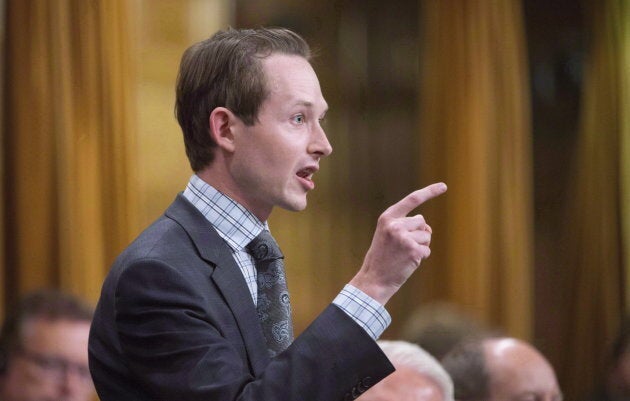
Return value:
[(580, 135), (565, 224), (563, 282), (570, 296), (561, 380), (568, 399), (588, 391), (604, 370), (622, 316), (621, 212), (628, 211), (620, 180), (629, 174), (623, 154), (630, 133), (629, 7), (621, 0), (594, 2), (586, 15)]

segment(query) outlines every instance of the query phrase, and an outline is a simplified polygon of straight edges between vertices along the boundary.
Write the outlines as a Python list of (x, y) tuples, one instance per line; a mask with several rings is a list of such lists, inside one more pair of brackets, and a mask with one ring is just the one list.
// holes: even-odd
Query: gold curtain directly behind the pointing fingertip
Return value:
[(421, 175), (445, 181), (424, 291), (529, 339), (532, 156), (521, 5), (422, 2)]

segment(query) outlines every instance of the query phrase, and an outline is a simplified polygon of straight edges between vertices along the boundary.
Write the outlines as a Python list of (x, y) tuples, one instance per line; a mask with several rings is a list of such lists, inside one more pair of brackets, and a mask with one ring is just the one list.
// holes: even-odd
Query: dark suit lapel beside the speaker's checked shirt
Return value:
[(259, 375), (269, 363), (267, 346), (252, 296), (230, 248), (206, 218), (181, 194), (165, 214), (186, 230), (201, 257), (215, 266), (210, 277), (238, 324), (252, 372)]

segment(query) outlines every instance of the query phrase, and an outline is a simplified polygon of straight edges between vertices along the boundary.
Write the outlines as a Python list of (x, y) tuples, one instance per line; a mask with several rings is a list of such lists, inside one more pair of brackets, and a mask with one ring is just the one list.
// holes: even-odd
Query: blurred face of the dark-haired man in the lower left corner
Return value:
[(22, 327), (23, 347), (0, 376), (3, 401), (88, 401), (89, 322), (32, 319)]

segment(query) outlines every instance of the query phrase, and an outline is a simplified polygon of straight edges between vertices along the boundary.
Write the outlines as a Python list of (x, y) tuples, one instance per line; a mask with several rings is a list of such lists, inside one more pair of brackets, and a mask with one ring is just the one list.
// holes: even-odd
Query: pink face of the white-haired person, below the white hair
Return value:
[(380, 381), (359, 401), (444, 401), (438, 384), (427, 375), (405, 366)]

